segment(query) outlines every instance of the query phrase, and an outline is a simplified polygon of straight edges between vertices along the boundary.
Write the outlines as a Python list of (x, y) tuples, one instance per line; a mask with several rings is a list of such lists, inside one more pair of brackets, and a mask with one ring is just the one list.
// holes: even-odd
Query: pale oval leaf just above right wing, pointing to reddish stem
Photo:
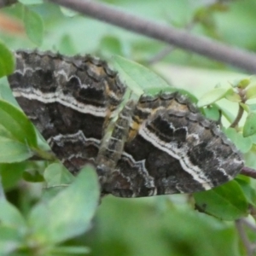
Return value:
[(228, 93), (233, 91), (229, 87), (218, 87), (208, 91), (204, 96), (201, 96), (201, 99), (197, 102), (197, 107), (201, 108), (207, 105), (210, 105), (214, 102), (217, 102), (220, 99), (223, 99)]

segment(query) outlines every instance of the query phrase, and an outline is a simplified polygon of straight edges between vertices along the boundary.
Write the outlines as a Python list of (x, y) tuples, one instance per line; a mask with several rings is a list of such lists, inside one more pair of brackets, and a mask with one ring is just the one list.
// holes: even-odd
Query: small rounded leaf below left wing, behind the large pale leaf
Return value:
[(44, 179), (47, 185), (56, 186), (72, 183), (74, 176), (61, 164), (51, 164), (44, 171)]

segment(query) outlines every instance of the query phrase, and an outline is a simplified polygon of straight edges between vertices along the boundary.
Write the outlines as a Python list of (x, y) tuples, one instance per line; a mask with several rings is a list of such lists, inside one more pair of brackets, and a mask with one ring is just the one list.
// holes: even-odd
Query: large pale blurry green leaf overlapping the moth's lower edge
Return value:
[(84, 233), (96, 211), (99, 191), (96, 172), (90, 166), (84, 167), (67, 189), (32, 209), (32, 236), (41, 242), (58, 243)]

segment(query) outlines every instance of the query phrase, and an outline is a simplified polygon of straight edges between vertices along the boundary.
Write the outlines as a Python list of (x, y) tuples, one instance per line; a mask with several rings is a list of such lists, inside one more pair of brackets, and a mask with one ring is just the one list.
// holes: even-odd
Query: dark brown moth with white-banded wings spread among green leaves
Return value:
[(9, 84), (20, 108), (70, 172), (96, 167), (103, 195), (212, 189), (244, 165), (218, 125), (177, 92), (124, 104), (125, 84), (105, 61), (38, 50), (15, 58)]

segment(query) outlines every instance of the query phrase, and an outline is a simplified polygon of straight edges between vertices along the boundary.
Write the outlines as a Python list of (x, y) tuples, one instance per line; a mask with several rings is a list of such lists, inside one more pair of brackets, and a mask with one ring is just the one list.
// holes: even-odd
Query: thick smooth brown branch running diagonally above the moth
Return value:
[(245, 49), (238, 49), (215, 40), (193, 35), (184, 30), (145, 20), (136, 15), (128, 14), (107, 4), (81, 0), (49, 0), (69, 9), (88, 15), (94, 19), (106, 21), (114, 26), (138, 32), (149, 38), (158, 39), (178, 48), (193, 51), (211, 59), (241, 67), (248, 73), (256, 72), (256, 54)]

